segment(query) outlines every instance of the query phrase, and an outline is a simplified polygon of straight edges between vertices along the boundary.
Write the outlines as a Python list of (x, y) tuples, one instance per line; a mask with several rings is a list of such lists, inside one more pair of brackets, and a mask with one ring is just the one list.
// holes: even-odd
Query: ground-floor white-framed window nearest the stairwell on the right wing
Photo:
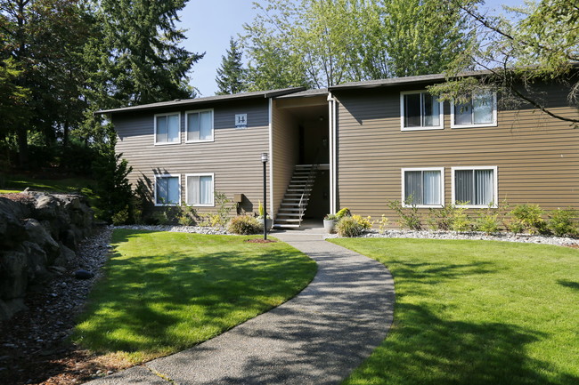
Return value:
[(444, 206), (444, 167), (403, 168), (402, 205)]

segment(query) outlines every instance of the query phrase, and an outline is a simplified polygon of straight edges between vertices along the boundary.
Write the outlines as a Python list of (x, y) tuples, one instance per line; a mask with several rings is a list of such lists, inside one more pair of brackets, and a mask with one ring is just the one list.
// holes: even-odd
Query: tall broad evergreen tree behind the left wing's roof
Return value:
[[(146, 104), (193, 96), (188, 73), (204, 53), (185, 50), (175, 26), (187, 0), (101, 0), (98, 40), (87, 49), (90, 85), (98, 108)], [(104, 85), (104, 86), (103, 86)], [(103, 95), (102, 93), (105, 93)], [(108, 105), (107, 105), (108, 104)]]

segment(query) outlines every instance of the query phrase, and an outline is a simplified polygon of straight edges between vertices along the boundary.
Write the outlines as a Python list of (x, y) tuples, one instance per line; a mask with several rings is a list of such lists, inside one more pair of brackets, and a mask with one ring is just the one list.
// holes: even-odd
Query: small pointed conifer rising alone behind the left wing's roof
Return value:
[(227, 95), (247, 91), (245, 68), (241, 63), (241, 51), (233, 37), (229, 41), (227, 56), (221, 57), (221, 68), (217, 68), (217, 95)]

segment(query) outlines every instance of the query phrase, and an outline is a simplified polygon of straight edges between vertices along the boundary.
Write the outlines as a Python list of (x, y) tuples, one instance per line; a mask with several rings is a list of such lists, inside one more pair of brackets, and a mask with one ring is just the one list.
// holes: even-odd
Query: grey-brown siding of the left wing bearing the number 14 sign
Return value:
[[(257, 212), (257, 200), (263, 199), (260, 154), (269, 152), (268, 100), (235, 100), (212, 107), (215, 140), (200, 143), (185, 143), (185, 112), (193, 108), (115, 114), (112, 117), (119, 138), (116, 149), (133, 167), (130, 181), (134, 188), (143, 176), (154, 183), (156, 173), (180, 174), (184, 202), (184, 174), (213, 172), (216, 191), (230, 199), (235, 193), (244, 194), (241, 208), (249, 213)], [(153, 116), (162, 112), (181, 113), (180, 144), (154, 145)], [(236, 114), (248, 115), (247, 129), (235, 129)], [(199, 207), (198, 211), (215, 211), (215, 207)]]

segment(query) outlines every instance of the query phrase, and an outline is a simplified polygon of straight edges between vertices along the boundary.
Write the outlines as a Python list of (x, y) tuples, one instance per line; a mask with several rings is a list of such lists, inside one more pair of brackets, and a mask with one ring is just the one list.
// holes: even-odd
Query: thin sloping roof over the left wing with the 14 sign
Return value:
[(111, 109), (102, 109), (100, 111), (96, 111), (95, 114), (110, 114), (113, 112), (128, 112), (128, 111), (139, 111), (143, 109), (157, 109), (157, 108), (165, 108), (165, 107), (177, 107), (177, 106), (189, 106), (195, 105), (200, 103), (207, 103), (209, 101), (224, 101), (224, 100), (244, 100), (244, 99), (257, 99), (257, 98), (274, 98), (281, 95), (286, 95), (289, 93), (295, 92), (303, 92), (306, 90), (306, 87), (291, 87), (291, 88), (282, 88), (279, 90), (271, 90), (271, 91), (257, 91), (257, 92), (242, 92), (242, 93), (235, 93), (233, 95), (215, 95), (215, 96), (208, 96), (205, 98), (194, 98), (194, 99), (177, 99), (177, 100), (169, 100), (169, 101), (160, 101), (158, 103), (151, 103), (151, 104), (143, 104), (139, 106), (131, 106), (131, 107), (123, 107), (123, 108), (111, 108)]

